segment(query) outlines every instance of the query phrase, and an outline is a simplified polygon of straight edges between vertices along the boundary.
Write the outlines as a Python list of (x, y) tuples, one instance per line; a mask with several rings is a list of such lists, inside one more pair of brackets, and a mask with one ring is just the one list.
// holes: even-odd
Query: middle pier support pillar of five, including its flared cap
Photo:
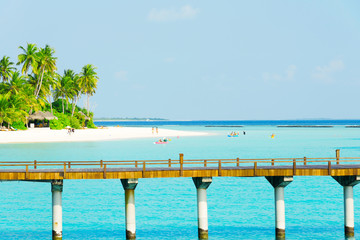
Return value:
[(206, 189), (212, 183), (211, 177), (193, 177), (197, 191), (197, 214), (198, 214), (198, 237), (199, 239), (208, 239), (208, 215)]

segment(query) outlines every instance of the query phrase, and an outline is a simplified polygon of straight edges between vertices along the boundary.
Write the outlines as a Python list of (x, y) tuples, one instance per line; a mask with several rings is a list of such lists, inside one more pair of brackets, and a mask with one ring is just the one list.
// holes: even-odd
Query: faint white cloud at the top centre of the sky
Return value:
[(175, 20), (191, 19), (196, 16), (199, 11), (190, 5), (185, 5), (180, 9), (151, 9), (148, 19), (155, 22), (168, 22)]

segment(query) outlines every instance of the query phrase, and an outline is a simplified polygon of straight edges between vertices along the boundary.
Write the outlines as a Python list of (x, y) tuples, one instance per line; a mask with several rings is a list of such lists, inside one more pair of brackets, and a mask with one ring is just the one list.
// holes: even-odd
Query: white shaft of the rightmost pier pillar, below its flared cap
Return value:
[(354, 236), (353, 186), (344, 186), (344, 224), (346, 237)]

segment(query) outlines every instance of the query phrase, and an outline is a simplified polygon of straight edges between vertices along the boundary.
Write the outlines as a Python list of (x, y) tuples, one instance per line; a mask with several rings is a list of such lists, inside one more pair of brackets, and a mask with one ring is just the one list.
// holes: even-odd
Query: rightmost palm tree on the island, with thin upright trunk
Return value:
[(81, 72), (79, 78), (79, 84), (82, 89), (82, 92), (87, 95), (87, 112), (90, 115), (89, 110), (89, 98), (95, 93), (95, 89), (97, 87), (97, 81), (99, 77), (95, 72), (95, 67), (91, 64), (85, 65)]

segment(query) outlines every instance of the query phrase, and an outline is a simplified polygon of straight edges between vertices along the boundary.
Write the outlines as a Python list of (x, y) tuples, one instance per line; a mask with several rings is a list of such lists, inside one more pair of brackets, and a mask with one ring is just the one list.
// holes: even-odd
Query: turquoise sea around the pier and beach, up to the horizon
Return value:
[[(352, 121), (98, 122), (212, 133), (174, 138), (0, 145), (0, 160), (141, 160), (196, 158), (360, 157), (360, 128)], [(218, 127), (205, 127), (205, 126)], [(231, 127), (240, 126), (243, 127)], [(331, 125), (279, 128), (276, 125)], [(220, 127), (221, 126), (221, 127)], [(246, 135), (228, 138), (231, 131)], [(275, 134), (275, 138), (270, 136)], [(354, 187), (355, 232), (360, 190)], [(0, 183), (0, 239), (51, 239), (50, 183)], [(207, 191), (209, 238), (274, 239), (274, 193), (263, 177), (215, 177)], [(137, 239), (197, 239), (196, 188), (191, 178), (139, 179)], [(287, 239), (344, 239), (342, 187), (330, 177), (294, 177), (285, 188)], [(125, 239), (120, 180), (65, 180), (63, 239)]]

